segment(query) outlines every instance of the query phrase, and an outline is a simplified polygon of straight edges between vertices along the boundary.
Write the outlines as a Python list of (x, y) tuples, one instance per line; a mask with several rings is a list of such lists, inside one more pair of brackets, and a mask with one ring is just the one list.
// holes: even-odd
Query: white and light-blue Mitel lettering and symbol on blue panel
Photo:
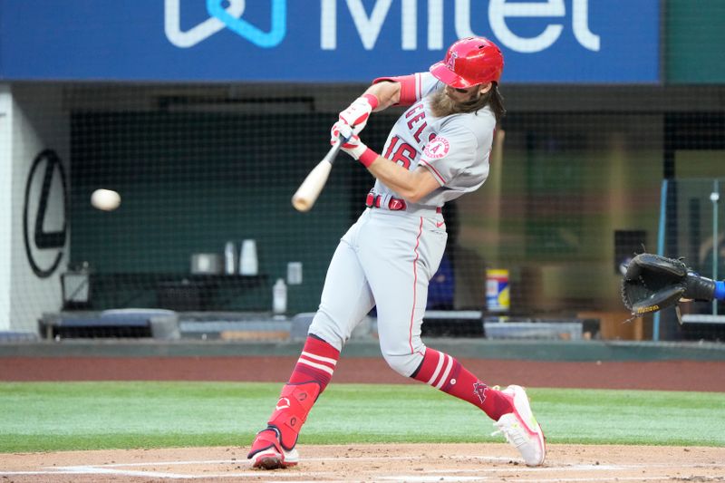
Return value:
[[(600, 37), (589, 29), (589, 0), (571, 1), (571, 28), (575, 40), (586, 50), (598, 52)], [(165, 0), (165, 33), (170, 43), (187, 48), (196, 45), (222, 29), (235, 32), (258, 47), (272, 48), (285, 39), (287, 26), (286, 0), (270, 0), (270, 29), (263, 31), (243, 17), (245, 0), (206, 0), (208, 19), (182, 31), (180, 24), (181, 0)], [(307, 1), (305, 0), (305, 4)], [(312, 5), (314, 2), (309, 2)], [(419, 49), (419, 2), (400, 0), (401, 49)], [(363, 0), (320, 0), (320, 48), (324, 51), (337, 49), (338, 4), (344, 5), (353, 19), (353, 28), (360, 37), (365, 50), (372, 50), (388, 18), (393, 0), (376, 0), (370, 14)], [(370, 2), (367, 2), (370, 5)], [(450, 5), (450, 4), (449, 4)], [(426, 48), (440, 51), (447, 45), (443, 34), (444, 0), (428, 0), (426, 23)], [(471, 27), (471, 15), (487, 15), (491, 32), (501, 46), (518, 53), (537, 53), (551, 47), (562, 35), (565, 24), (560, 20), (566, 16), (565, 0), (546, 2), (512, 2), (511, 0), (489, 0), (488, 10), (471, 10), (471, 0), (455, 0), (454, 28), (456, 38), (478, 35)], [(510, 24), (520, 19), (539, 20), (536, 33), (527, 35), (516, 32)], [(344, 25), (343, 28), (350, 28)]]

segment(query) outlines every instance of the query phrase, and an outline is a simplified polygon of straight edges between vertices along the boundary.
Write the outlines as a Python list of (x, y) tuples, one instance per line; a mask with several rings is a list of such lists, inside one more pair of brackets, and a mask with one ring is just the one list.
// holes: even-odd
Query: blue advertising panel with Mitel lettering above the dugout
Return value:
[(0, 0), (0, 79), (368, 82), (486, 36), (502, 82), (659, 82), (660, 0)]

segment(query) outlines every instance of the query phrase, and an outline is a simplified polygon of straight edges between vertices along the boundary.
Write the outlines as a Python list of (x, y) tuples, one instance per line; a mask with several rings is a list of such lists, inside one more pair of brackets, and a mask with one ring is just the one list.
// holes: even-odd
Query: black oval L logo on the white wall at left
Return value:
[(25, 254), (35, 275), (53, 275), (63, 259), (67, 191), (63, 162), (53, 150), (38, 154), (25, 185)]

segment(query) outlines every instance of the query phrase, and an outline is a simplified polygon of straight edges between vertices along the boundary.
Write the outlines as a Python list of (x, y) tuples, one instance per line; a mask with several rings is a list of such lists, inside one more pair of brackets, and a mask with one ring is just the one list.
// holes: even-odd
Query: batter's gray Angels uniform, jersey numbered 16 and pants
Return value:
[(410, 376), (425, 353), (420, 325), (428, 283), (448, 238), (440, 207), (486, 180), (496, 120), (488, 107), (437, 118), (427, 96), (442, 83), (427, 72), (394, 80), (401, 82), (400, 104), (410, 108), (392, 128), (382, 156), (407, 169), (430, 169), (440, 188), (420, 203), (406, 200), (405, 209), (394, 209), (388, 201), (399, 195), (375, 183), (383, 208), (365, 209), (341, 239), (309, 333), (342, 350), (375, 306), (382, 355), (392, 369)]

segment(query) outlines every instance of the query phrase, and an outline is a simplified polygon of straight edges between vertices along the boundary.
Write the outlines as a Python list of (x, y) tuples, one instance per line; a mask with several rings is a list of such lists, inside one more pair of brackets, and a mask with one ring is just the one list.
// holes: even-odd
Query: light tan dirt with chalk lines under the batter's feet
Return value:
[(25, 482), (172, 481), (725, 481), (725, 449), (550, 445), (528, 468), (506, 444), (304, 446), (301, 463), (249, 467), (247, 448), (0, 455), (0, 478)]

